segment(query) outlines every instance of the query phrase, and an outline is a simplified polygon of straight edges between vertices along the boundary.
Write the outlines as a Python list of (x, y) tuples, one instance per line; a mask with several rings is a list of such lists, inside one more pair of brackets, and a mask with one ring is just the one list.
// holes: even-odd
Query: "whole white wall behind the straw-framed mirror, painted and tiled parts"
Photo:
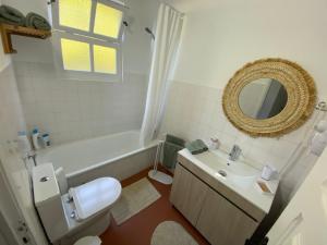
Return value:
[[(318, 96), (327, 97), (327, 3), (323, 0), (295, 1), (171, 1), (186, 13), (186, 26), (173, 77), (162, 132), (186, 139), (218, 137), (230, 150), (243, 149), (261, 168), (274, 164), (281, 170), (299, 143), (308, 122), (281, 138), (251, 138), (234, 128), (221, 109), (225, 85), (246, 62), (280, 57), (293, 60), (315, 78)], [(282, 184), (286, 199), (306, 162), (292, 169)]]

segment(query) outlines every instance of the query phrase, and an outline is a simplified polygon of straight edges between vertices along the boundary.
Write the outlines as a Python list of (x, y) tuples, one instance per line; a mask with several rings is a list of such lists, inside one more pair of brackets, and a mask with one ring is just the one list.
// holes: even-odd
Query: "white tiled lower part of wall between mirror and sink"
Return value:
[[(249, 163), (261, 169), (272, 164), (281, 170), (291, 158), (299, 143), (312, 128), (311, 119), (298, 131), (280, 138), (252, 138), (228, 122), (221, 107), (222, 90), (183, 82), (173, 82), (169, 94), (162, 133), (171, 133), (187, 140), (218, 137), (226, 151), (238, 144)], [(283, 194), (289, 195), (298, 179), (305, 174), (305, 161), (299, 161), (283, 184)]]

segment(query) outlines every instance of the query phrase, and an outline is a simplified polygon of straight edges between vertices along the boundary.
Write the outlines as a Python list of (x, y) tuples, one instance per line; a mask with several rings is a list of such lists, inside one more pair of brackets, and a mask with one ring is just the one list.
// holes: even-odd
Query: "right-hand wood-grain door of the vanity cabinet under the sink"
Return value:
[(257, 222), (225, 197), (207, 192), (196, 229), (213, 245), (244, 245), (256, 228)]

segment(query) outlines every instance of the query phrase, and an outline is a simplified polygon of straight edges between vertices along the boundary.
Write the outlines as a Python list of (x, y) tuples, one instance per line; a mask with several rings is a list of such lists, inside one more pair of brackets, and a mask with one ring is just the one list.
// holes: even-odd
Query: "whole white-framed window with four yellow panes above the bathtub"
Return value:
[(57, 0), (52, 4), (58, 63), (68, 77), (119, 81), (123, 9), (110, 0)]

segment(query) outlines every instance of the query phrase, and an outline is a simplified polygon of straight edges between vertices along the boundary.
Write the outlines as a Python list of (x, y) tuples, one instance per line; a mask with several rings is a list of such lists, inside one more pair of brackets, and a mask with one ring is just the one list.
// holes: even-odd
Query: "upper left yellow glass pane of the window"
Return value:
[(59, 24), (89, 32), (92, 0), (60, 0)]

